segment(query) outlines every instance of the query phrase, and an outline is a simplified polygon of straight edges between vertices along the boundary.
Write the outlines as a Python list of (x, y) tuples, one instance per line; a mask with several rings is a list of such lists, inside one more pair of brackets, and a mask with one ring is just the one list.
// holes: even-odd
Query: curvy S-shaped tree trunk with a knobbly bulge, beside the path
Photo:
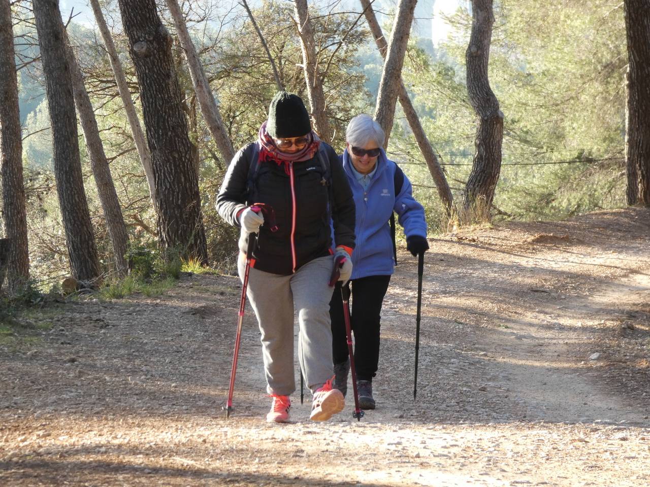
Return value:
[(494, 14), (492, 0), (472, 1), (472, 32), (465, 52), (467, 92), (476, 112), (476, 153), (463, 195), (463, 219), (489, 218), (499, 172), (503, 140), (503, 112), (487, 79)]

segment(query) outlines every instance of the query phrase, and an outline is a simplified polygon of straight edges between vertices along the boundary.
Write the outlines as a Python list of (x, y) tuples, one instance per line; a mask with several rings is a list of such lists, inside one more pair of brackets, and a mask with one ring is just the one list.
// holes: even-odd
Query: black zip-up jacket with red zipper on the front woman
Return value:
[[(321, 142), (324, 144), (324, 142)], [(216, 197), (216, 210), (231, 225), (240, 226), (239, 214), (253, 203), (274, 208), (278, 231), (263, 225), (259, 232), (255, 269), (289, 275), (307, 262), (326, 256), (331, 248), (328, 200), (336, 245), (354, 248), (355, 209), (352, 191), (339, 157), (324, 144), (331, 172), (331, 192), (323, 184), (322, 165), (315, 155), (290, 164), (289, 175), (283, 165), (263, 162), (257, 170), (251, 194), (246, 195), (248, 171), (254, 143), (240, 149), (233, 158)], [(246, 252), (248, 234), (242, 232), (239, 249)]]

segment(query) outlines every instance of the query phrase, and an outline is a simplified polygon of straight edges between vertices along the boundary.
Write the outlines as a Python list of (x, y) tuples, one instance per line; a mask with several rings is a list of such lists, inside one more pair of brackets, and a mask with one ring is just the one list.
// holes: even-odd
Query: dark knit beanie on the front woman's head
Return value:
[(278, 92), (268, 106), (266, 133), (276, 139), (300, 137), (311, 132), (311, 121), (302, 99), (293, 93)]

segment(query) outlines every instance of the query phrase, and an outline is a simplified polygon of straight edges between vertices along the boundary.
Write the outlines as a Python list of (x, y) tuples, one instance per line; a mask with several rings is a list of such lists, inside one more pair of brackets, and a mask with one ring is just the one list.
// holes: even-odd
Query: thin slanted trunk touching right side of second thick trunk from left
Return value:
[(83, 129), (84, 138), (86, 140), (86, 147), (90, 154), (90, 167), (97, 183), (99, 194), (99, 201), (101, 208), (104, 210), (104, 217), (106, 218), (106, 226), (109, 229), (110, 242), (113, 246), (113, 254), (115, 258), (115, 268), (118, 275), (126, 275), (127, 263), (125, 254), (129, 245), (129, 237), (126, 232), (126, 225), (122, 216), (122, 208), (120, 208), (120, 199), (115, 191), (113, 179), (110, 175), (109, 162), (104, 153), (104, 145), (99, 137), (99, 129), (97, 120), (95, 119), (95, 112), (92, 110), (90, 97), (86, 92), (86, 87), (83, 81), (83, 75), (79, 64), (75, 59), (75, 55), (68, 40), (68, 34), (64, 31), (66, 42), (66, 54), (68, 55), (68, 64), (70, 66), (70, 78), (72, 79), (72, 90), (75, 97), (75, 105), (77, 112), (79, 112), (79, 121), (81, 121), (81, 128)]

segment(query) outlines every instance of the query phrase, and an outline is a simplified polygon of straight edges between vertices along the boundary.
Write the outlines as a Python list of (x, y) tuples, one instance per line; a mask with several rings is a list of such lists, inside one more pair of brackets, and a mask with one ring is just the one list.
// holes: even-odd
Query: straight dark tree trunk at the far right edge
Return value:
[(650, 205), (650, 6), (647, 0), (625, 0), (623, 12), (629, 62), (625, 139), (627, 201), (630, 205)]

